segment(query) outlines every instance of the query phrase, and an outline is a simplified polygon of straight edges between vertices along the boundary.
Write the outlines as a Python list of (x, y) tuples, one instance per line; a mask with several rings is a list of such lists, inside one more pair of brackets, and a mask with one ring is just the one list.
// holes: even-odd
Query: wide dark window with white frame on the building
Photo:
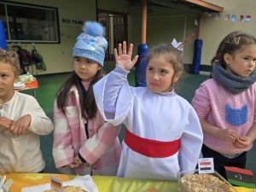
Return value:
[(21, 3), (0, 3), (7, 42), (60, 43), (58, 9)]

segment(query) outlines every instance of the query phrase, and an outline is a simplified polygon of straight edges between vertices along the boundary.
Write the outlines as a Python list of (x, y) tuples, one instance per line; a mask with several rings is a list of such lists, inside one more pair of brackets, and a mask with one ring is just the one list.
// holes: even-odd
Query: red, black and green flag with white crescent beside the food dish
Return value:
[(241, 187), (254, 189), (255, 183), (251, 170), (241, 169), (234, 166), (224, 166), (228, 181)]

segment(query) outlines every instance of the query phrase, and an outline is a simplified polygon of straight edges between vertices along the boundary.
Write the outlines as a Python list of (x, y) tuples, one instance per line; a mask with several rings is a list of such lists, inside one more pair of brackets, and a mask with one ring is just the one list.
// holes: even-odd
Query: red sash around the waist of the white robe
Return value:
[(180, 139), (172, 142), (160, 142), (143, 137), (137, 137), (125, 129), (125, 143), (132, 150), (147, 157), (163, 158), (176, 154)]

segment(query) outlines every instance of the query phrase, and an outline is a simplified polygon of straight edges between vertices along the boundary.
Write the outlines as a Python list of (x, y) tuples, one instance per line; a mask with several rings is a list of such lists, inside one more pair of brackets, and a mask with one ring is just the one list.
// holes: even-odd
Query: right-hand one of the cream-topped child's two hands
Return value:
[(10, 127), (9, 131), (15, 136), (21, 135), (30, 125), (31, 116), (26, 114), (22, 116), (20, 119), (16, 120)]

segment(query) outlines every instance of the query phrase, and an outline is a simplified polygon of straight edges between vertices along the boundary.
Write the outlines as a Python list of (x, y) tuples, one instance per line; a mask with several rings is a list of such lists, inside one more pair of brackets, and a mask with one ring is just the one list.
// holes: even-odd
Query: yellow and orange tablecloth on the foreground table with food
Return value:
[[(63, 174), (51, 174), (62, 181), (68, 181), (75, 176)], [(9, 192), (20, 192), (22, 188), (33, 185), (49, 183), (49, 173), (7, 173), (7, 178), (14, 179)], [(143, 179), (133, 179), (124, 177), (92, 176), (99, 192), (146, 192), (155, 188), (160, 192), (177, 192), (177, 182), (175, 181), (153, 181)], [(253, 189), (236, 187), (238, 192), (252, 192)]]

